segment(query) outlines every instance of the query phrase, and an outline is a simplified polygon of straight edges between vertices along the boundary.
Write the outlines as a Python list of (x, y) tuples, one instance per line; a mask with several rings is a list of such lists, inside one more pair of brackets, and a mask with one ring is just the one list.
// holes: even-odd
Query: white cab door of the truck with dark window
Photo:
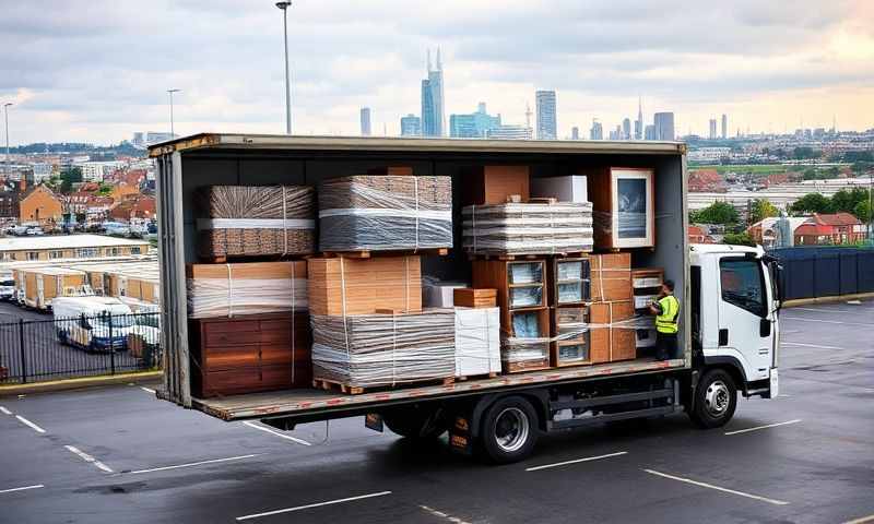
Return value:
[(754, 257), (724, 257), (719, 276), (720, 349), (741, 359), (747, 381), (768, 379), (775, 326), (764, 265)]

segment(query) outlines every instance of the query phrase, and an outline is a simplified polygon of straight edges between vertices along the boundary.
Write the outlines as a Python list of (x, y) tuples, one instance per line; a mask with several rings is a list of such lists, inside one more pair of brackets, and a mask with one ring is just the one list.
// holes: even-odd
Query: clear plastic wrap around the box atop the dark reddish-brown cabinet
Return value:
[(188, 278), (192, 319), (305, 311), (306, 278)]

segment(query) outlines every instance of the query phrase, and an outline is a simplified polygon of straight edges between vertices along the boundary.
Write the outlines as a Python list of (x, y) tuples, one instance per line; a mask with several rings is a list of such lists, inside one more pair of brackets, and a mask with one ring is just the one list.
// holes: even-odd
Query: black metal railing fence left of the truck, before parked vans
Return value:
[(0, 323), (0, 384), (160, 369), (158, 313)]

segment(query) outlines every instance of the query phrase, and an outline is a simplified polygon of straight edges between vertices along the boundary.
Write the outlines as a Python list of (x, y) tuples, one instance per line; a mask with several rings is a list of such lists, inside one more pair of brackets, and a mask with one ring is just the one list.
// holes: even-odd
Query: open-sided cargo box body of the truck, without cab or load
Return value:
[[(305, 184), (324, 179), (377, 172), (386, 166), (409, 166), (414, 175), (452, 178), (454, 247), (447, 257), (423, 257), (422, 275), (442, 281), (471, 282), (471, 263), (461, 249), (461, 207), (465, 176), (483, 166), (529, 166), (534, 177), (584, 172), (590, 168), (623, 166), (652, 168), (654, 212), (658, 216), (654, 249), (635, 250), (635, 267), (664, 267), (676, 284), (681, 305), (689, 296), (689, 254), (686, 236), (685, 145), (673, 142), (563, 142), (493, 140), (420, 140), (377, 138), (319, 138), (284, 135), (198, 134), (157, 144), (158, 238), (161, 266), (162, 336), (166, 350), (165, 384), (161, 395), (226, 420), (299, 417), (304, 420), (341, 414), (366, 413), (374, 406), (421, 398), (509, 391), (536, 384), (687, 371), (692, 367), (689, 308), (681, 310), (678, 345), (682, 357), (547, 369), (497, 378), (473, 379), (446, 385), (404, 388), (379, 393), (346, 395), (315, 389), (196, 398), (191, 395), (186, 310), (187, 263), (197, 262), (194, 191), (212, 184)], [(316, 418), (314, 418), (316, 417)]]

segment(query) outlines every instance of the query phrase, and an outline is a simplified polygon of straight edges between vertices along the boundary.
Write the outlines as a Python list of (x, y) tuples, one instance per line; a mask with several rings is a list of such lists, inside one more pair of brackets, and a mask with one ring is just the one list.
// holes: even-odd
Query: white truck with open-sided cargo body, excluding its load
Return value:
[[(153, 145), (157, 162), (165, 382), (160, 396), (224, 420), (260, 419), (281, 430), (300, 422), (367, 415), (409, 438), (449, 432), (450, 446), (496, 463), (524, 458), (543, 432), (685, 412), (702, 428), (725, 425), (739, 395), (778, 393), (779, 266), (760, 248), (690, 246), (686, 146), (677, 142), (421, 140), (198, 134)], [(453, 384), (344, 394), (318, 389), (200, 398), (191, 394), (186, 263), (196, 262), (193, 192), (211, 184), (312, 184), (380, 166), (452, 179), (456, 247), (425, 258), (423, 275), (463, 276), (461, 203), (470, 166), (519, 165), (531, 177), (590, 167), (652, 169), (654, 245), (633, 252), (636, 267), (663, 267), (681, 303), (680, 355), (559, 367)], [(442, 274), (441, 274), (442, 273)], [(447, 274), (449, 273), (449, 274)]]

